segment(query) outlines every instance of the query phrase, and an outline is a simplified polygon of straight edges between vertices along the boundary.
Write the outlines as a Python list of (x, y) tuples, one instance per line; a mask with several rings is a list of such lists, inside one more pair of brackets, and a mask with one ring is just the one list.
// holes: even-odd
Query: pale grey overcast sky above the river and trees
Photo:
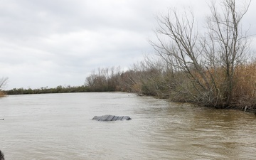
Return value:
[[(0, 78), (6, 90), (83, 85), (97, 68), (129, 68), (154, 54), (155, 17), (207, 0), (0, 0)], [(255, 34), (255, 1), (245, 17)]]

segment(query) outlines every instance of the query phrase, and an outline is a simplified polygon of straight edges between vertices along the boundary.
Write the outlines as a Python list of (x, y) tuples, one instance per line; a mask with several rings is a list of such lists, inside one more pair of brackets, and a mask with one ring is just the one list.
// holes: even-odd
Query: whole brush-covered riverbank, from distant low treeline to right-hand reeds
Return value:
[[(191, 81), (188, 73), (167, 70), (163, 63), (145, 61), (134, 65), (134, 68), (121, 71), (117, 68), (98, 69), (92, 72), (81, 86), (41, 87), (38, 89), (14, 88), (6, 90), (7, 95), (27, 95), (62, 92), (134, 92), (137, 95), (149, 95), (171, 102), (190, 102), (216, 109), (236, 109), (245, 112), (256, 111), (256, 61), (238, 65), (234, 70), (231, 95), (226, 92), (225, 71), (221, 68), (204, 70), (206, 81), (201, 80), (198, 86)], [(211, 82), (210, 79), (214, 79)], [(197, 84), (197, 85), (196, 85)], [(210, 87), (209, 87), (210, 86)], [(227, 103), (228, 101), (228, 103)]]

